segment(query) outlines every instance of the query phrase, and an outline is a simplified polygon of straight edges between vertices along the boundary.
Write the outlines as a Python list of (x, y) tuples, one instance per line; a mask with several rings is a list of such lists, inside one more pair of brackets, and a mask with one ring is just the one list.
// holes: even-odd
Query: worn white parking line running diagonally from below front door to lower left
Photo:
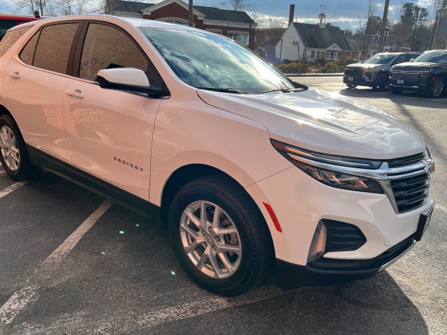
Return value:
[[(19, 183), (17, 183), (19, 184)], [(34, 285), (29, 285), (26, 288), (14, 293), (12, 297), (6, 301), (0, 308), (0, 325), (8, 325), (13, 322), (17, 313), (27, 306), (31, 301), (38, 299), (44, 288), (38, 284), (39, 278), (44, 276), (50, 269), (54, 269), (61, 260), (64, 260), (66, 255), (78, 244), (78, 241), (89, 231), (91, 227), (98, 221), (101, 216), (107, 211), (112, 202), (105, 200), (94, 213), (92, 213), (79, 227), (76, 229), (65, 241), (62, 243), (42, 264), (34, 271), (31, 278), (27, 282), (35, 282)], [(45, 277), (45, 276), (44, 276)], [(44, 285), (45, 283), (43, 283)]]

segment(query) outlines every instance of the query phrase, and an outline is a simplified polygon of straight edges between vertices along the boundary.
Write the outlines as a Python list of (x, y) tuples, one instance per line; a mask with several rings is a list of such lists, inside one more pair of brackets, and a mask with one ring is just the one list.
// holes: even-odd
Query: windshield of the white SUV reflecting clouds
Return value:
[(258, 94), (294, 89), (270, 64), (216, 34), (138, 27), (186, 84), (201, 89)]

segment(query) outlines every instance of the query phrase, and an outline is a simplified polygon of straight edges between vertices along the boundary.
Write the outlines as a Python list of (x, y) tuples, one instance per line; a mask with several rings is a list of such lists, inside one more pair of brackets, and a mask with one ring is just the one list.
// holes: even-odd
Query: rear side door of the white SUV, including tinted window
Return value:
[[(6, 66), (3, 96), (25, 142), (66, 160), (62, 89), (78, 22), (50, 24), (34, 34)], [(32, 154), (32, 153), (30, 153)]]

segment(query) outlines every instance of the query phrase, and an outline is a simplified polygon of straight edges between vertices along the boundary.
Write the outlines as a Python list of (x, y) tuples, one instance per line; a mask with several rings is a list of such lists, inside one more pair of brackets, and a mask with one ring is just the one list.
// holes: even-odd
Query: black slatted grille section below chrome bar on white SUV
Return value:
[(430, 175), (422, 173), (402, 179), (393, 179), (390, 184), (399, 213), (405, 213), (425, 204), (430, 187)]

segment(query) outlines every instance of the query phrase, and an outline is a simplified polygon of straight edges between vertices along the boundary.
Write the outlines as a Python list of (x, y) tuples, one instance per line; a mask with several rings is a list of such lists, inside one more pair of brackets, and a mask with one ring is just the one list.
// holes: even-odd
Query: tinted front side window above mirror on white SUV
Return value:
[[(80, 64), (80, 77), (95, 80), (105, 68), (139, 68), (147, 73), (147, 59), (124, 32), (105, 24), (89, 24)], [(150, 78), (149, 78), (150, 81)]]

